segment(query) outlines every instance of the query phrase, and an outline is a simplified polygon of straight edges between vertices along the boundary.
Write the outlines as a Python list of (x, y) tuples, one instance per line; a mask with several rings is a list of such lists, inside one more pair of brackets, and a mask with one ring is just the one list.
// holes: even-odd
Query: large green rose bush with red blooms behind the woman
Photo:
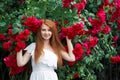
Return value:
[[(55, 21), (59, 37), (65, 46), (65, 36), (72, 39), (76, 61), (64, 61), (63, 67), (56, 71), (59, 80), (97, 80), (96, 71), (101, 72), (105, 67), (102, 60), (107, 63), (120, 62), (117, 44), (120, 36), (120, 0), (20, 0), (11, 1), (11, 4), (9, 0), (2, 2), (0, 47), (10, 55), (14, 56), (34, 41), (34, 32), (43, 18)], [(6, 6), (6, 3), (9, 5)], [(13, 56), (12, 59), (11, 56), (4, 58), (6, 66), (13, 71), (12, 79), (21, 80), (21, 75), (26, 74), (23, 78), (26, 80), (31, 66), (28, 64), (29, 67), (18, 69), (16, 64), (10, 64), (11, 61), (16, 63)]]

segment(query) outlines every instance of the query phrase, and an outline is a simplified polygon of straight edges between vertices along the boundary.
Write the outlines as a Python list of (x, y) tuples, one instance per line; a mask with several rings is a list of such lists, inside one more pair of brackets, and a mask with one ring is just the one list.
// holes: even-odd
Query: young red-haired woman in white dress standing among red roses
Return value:
[(54, 69), (62, 65), (62, 59), (75, 61), (71, 40), (66, 37), (68, 53), (58, 38), (53, 21), (45, 19), (37, 31), (36, 42), (17, 53), (17, 65), (24, 66), (32, 57), (30, 80), (58, 80)]

